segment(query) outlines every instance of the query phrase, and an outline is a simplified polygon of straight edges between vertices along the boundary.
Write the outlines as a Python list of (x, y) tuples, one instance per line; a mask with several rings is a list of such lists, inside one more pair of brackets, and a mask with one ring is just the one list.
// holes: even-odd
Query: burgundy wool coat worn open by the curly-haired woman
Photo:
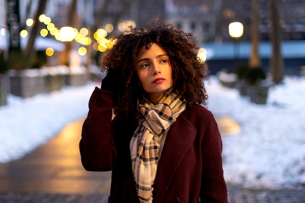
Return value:
[[(83, 167), (112, 170), (109, 203), (139, 203), (129, 143), (138, 123), (112, 120), (113, 94), (95, 87), (79, 143)], [(153, 203), (228, 203), (222, 142), (210, 111), (193, 105), (172, 124), (158, 163)]]

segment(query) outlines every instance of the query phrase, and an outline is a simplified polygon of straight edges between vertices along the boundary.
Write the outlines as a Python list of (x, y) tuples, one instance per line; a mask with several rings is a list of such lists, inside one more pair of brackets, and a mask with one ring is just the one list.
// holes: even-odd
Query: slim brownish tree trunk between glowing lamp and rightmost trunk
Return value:
[(260, 67), (261, 59), (259, 56), (259, 0), (252, 0), (252, 19), (251, 19), (251, 55), (249, 60), (250, 67)]

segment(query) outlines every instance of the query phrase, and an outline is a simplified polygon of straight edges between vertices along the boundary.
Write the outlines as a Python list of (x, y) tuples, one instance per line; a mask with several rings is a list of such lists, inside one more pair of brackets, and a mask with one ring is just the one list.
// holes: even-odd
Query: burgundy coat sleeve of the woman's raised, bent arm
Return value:
[(89, 101), (89, 112), (82, 126), (79, 150), (86, 170), (112, 170), (116, 158), (111, 135), (113, 93), (95, 87)]

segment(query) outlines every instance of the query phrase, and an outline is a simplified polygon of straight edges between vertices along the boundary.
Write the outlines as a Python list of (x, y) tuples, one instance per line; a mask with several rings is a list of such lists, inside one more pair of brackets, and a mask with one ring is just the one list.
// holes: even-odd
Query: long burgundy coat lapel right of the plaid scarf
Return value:
[(153, 202), (162, 202), (172, 176), (185, 153), (190, 149), (196, 132), (194, 126), (183, 116), (183, 113), (172, 124), (166, 137), (156, 173), (154, 193), (158, 195), (154, 196)]

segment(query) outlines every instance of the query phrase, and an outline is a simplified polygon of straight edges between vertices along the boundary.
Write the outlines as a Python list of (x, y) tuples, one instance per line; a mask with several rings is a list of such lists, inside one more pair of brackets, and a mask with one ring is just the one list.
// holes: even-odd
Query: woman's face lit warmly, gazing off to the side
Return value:
[(169, 56), (157, 44), (143, 49), (136, 59), (136, 72), (143, 89), (156, 104), (172, 87), (172, 67)]

